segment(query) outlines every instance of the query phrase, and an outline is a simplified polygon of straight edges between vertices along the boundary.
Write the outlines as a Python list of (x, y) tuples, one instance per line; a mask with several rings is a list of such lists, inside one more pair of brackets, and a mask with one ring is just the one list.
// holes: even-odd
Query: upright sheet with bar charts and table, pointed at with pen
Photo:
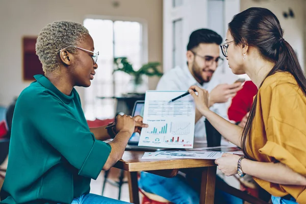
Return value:
[(195, 106), (186, 91), (146, 91), (139, 146), (193, 148)]

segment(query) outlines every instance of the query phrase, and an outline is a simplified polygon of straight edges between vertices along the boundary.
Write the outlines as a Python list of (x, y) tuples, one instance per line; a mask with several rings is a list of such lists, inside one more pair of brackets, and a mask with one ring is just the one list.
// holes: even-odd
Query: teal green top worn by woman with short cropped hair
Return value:
[(43, 75), (19, 95), (0, 203), (71, 203), (89, 193), (109, 157), (109, 144), (89, 131), (80, 96)]

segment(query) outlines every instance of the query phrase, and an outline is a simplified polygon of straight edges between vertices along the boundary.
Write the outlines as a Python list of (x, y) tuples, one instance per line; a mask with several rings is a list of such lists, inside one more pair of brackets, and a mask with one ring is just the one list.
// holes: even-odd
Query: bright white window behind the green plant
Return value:
[[(115, 72), (114, 58), (127, 57), (137, 69), (143, 64), (142, 24), (135, 21), (105, 19), (84, 20), (84, 26), (99, 52), (98, 68), (91, 86), (85, 89), (85, 117), (89, 120), (113, 118), (115, 96), (121, 96), (131, 77), (123, 72)], [(101, 98), (99, 98), (101, 97)]]

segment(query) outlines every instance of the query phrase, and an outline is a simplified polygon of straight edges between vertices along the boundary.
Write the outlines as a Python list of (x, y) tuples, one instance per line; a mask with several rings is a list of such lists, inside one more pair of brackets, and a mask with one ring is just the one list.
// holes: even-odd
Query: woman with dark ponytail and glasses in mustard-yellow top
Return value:
[(234, 16), (225, 41), (233, 73), (246, 73), (259, 91), (243, 129), (209, 110), (206, 90), (190, 87), (197, 109), (246, 156), (224, 154), (216, 164), (225, 175), (253, 176), (273, 203), (306, 203), (306, 79), (293, 48), (264, 8)]

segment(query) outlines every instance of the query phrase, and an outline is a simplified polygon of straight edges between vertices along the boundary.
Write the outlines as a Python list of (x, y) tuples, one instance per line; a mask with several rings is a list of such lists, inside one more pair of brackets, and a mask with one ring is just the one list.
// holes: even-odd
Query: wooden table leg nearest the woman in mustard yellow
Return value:
[(216, 166), (205, 167), (202, 170), (200, 203), (213, 204), (216, 186)]

